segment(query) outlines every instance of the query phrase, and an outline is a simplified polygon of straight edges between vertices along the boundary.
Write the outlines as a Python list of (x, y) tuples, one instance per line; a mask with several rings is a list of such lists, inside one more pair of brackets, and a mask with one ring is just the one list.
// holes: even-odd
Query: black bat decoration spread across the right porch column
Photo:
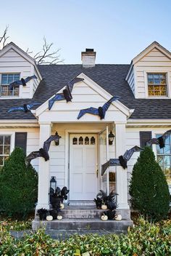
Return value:
[(126, 151), (123, 156), (119, 156), (118, 159), (109, 159), (109, 161), (101, 165), (101, 175), (104, 175), (104, 172), (108, 167), (122, 166), (123, 169), (126, 169), (127, 162), (130, 160), (131, 156), (133, 156), (133, 153), (139, 151), (143, 151), (143, 148), (135, 145), (133, 148), (130, 148), (128, 151)]

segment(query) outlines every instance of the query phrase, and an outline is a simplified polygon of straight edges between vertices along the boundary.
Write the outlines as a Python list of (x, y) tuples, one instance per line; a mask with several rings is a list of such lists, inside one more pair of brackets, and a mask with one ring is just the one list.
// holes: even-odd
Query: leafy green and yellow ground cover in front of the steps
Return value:
[(51, 239), (43, 229), (14, 239), (9, 230), (30, 228), (27, 222), (1, 220), (0, 255), (4, 256), (41, 256), (41, 255), (171, 255), (171, 220), (151, 224), (143, 218), (135, 221), (135, 227), (128, 229), (128, 234), (109, 234), (104, 236), (77, 234), (66, 241)]

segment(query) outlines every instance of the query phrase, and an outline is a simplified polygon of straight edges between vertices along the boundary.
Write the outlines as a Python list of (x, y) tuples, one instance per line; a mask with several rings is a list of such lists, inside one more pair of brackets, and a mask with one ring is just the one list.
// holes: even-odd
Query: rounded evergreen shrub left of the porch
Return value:
[(15, 148), (0, 171), (0, 211), (8, 217), (26, 217), (34, 207), (38, 193), (38, 175), (26, 167), (25, 153)]

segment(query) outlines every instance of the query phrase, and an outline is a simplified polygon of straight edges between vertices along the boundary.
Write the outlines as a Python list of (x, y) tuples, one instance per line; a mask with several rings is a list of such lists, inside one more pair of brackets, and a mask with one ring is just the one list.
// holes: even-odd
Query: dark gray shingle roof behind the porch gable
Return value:
[(35, 119), (31, 113), (7, 113), (7, 110), (23, 103), (43, 103), (80, 73), (85, 73), (111, 95), (120, 96), (120, 101), (128, 108), (135, 108), (131, 119), (171, 119), (170, 99), (135, 99), (125, 81), (129, 67), (130, 65), (106, 64), (97, 64), (94, 68), (83, 68), (82, 65), (39, 65), (43, 81), (38, 85), (33, 99), (0, 100), (0, 119)]

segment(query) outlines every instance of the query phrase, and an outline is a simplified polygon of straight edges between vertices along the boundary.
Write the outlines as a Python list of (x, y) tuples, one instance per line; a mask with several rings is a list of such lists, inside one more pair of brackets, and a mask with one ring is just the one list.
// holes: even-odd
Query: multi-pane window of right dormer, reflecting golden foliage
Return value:
[(149, 96), (167, 96), (166, 73), (148, 73)]

